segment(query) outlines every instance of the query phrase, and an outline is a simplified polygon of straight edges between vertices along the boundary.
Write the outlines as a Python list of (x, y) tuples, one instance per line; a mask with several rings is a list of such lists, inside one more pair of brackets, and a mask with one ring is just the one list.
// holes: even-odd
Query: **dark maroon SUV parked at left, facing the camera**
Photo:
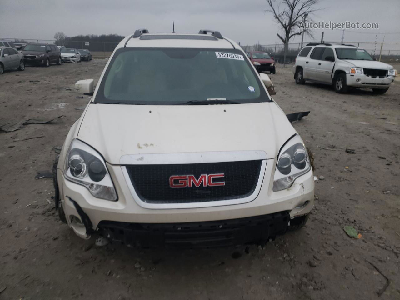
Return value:
[(22, 50), (25, 64), (50, 66), (52, 63), (61, 64), (60, 50), (54, 44), (30, 43)]

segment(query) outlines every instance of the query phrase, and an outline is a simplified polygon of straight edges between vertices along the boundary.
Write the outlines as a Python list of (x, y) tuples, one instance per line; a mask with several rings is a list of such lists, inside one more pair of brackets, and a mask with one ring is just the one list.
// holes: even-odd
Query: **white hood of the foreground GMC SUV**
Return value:
[(262, 150), (269, 159), (276, 157), (295, 133), (275, 102), (164, 106), (90, 103), (77, 137), (107, 162), (120, 164), (126, 154), (211, 151)]

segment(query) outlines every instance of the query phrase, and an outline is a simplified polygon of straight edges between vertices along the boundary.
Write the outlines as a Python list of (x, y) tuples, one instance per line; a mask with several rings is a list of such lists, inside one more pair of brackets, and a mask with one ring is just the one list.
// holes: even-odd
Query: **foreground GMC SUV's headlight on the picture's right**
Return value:
[(310, 168), (306, 146), (300, 136), (296, 135), (280, 151), (272, 190), (278, 192), (290, 188), (294, 180)]

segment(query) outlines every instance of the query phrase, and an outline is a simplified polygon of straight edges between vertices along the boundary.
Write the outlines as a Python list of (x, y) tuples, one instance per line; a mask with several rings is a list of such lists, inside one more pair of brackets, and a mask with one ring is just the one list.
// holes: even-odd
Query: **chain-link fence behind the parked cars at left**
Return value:
[[(56, 44), (56, 40), (34, 40), (30, 38), (0, 38), (0, 40), (9, 40), (15, 43), (43, 43)], [(118, 45), (117, 42), (85, 42), (66, 40), (62, 43), (66, 48), (88, 49), (92, 52), (93, 58), (108, 58)]]

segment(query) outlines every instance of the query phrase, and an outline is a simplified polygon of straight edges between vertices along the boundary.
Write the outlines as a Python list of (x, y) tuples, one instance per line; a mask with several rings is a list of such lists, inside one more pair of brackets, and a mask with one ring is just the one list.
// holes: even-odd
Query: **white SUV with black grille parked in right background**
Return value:
[(394, 81), (397, 71), (384, 62), (377, 62), (364, 49), (346, 44), (307, 44), (293, 66), (297, 84), (305, 81), (332, 84), (338, 93), (348, 87), (372, 88), (384, 94)]

